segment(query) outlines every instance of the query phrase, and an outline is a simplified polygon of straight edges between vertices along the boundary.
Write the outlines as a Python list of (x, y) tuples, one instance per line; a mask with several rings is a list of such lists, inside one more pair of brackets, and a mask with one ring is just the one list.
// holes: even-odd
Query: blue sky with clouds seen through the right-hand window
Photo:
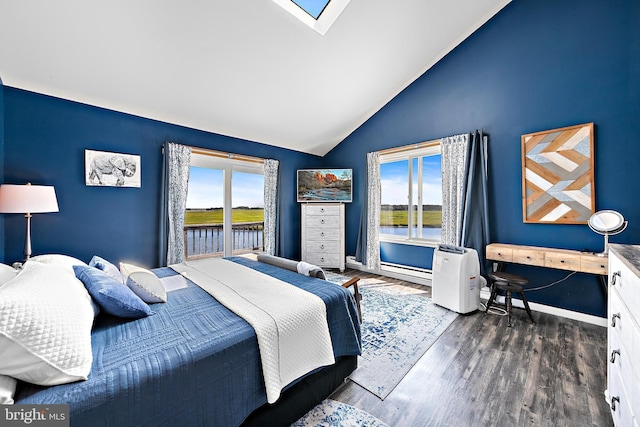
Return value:
[[(422, 203), (425, 205), (442, 204), (442, 166), (440, 156), (423, 157)], [(380, 165), (382, 184), (382, 203), (406, 205), (408, 191), (408, 162), (399, 161)]]

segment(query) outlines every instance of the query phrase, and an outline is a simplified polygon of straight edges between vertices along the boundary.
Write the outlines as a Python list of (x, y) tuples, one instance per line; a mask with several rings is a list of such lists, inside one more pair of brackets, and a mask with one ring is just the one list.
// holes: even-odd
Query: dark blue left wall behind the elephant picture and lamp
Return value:
[[(320, 157), (4, 88), (4, 182), (55, 186), (60, 212), (34, 214), (33, 253), (64, 253), (84, 261), (98, 254), (153, 267), (158, 259), (161, 147), (195, 147), (280, 160), (283, 255), (299, 259), (300, 208), (296, 169)], [(0, 103), (0, 105), (2, 105)], [(141, 188), (88, 187), (84, 150), (141, 156)], [(25, 219), (5, 215), (4, 260), (23, 258)]]

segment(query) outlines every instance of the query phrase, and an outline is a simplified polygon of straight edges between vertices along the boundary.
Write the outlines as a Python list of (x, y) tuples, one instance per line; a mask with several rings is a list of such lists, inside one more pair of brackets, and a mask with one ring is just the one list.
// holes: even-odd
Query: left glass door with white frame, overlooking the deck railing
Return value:
[(264, 166), (192, 153), (185, 215), (187, 259), (264, 247)]

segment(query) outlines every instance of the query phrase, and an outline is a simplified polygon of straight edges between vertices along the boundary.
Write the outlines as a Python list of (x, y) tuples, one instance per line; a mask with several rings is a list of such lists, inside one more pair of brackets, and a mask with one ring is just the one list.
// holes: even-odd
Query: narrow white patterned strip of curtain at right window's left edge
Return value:
[(367, 245), (365, 265), (380, 270), (380, 153), (367, 153)]

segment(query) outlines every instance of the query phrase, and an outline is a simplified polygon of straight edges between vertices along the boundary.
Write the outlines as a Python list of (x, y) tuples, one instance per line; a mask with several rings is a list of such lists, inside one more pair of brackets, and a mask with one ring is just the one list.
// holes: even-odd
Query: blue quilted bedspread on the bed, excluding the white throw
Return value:
[[(232, 261), (318, 295), (336, 357), (360, 354), (351, 293), (323, 280), (246, 258)], [(160, 276), (175, 274), (156, 269)], [(253, 328), (197, 285), (168, 293), (152, 316), (99, 315), (87, 381), (54, 387), (21, 383), (16, 403), (68, 403), (71, 425), (236, 426), (267, 402)]]

